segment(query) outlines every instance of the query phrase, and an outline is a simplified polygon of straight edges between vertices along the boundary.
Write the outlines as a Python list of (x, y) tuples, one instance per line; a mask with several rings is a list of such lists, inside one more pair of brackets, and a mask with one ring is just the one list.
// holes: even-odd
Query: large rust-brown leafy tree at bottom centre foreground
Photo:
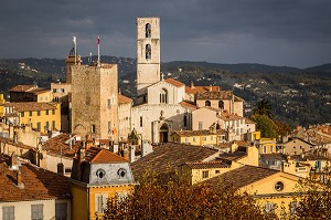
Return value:
[[(164, 181), (162, 181), (164, 182)], [(148, 177), (122, 201), (108, 201), (104, 219), (273, 219), (248, 193), (231, 186), (190, 186), (170, 179), (166, 184)]]

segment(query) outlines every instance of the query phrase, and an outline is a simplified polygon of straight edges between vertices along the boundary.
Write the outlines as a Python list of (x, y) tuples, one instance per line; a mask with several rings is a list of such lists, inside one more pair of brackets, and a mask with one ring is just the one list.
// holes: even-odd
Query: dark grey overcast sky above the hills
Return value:
[(331, 62), (331, 0), (2, 0), (0, 59), (136, 57), (136, 20), (159, 17), (161, 61), (308, 67)]

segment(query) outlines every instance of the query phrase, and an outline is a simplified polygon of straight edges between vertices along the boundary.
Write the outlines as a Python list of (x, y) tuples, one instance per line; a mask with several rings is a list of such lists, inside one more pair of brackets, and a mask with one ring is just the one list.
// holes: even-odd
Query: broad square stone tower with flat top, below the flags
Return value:
[(72, 132), (118, 139), (117, 64), (72, 66)]

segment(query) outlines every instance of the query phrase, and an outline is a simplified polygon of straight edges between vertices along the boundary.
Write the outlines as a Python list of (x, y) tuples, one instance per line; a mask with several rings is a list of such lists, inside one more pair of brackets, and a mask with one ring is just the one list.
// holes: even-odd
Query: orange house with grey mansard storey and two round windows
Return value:
[(98, 219), (107, 199), (122, 199), (136, 185), (129, 161), (99, 147), (77, 153), (72, 179), (72, 219)]

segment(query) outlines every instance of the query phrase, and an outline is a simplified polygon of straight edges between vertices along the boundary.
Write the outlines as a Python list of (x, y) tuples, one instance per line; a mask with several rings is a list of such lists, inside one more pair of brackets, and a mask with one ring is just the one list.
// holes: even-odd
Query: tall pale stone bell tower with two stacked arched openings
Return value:
[[(137, 19), (137, 93), (160, 81), (160, 18)], [(143, 97), (146, 99), (146, 97)]]

